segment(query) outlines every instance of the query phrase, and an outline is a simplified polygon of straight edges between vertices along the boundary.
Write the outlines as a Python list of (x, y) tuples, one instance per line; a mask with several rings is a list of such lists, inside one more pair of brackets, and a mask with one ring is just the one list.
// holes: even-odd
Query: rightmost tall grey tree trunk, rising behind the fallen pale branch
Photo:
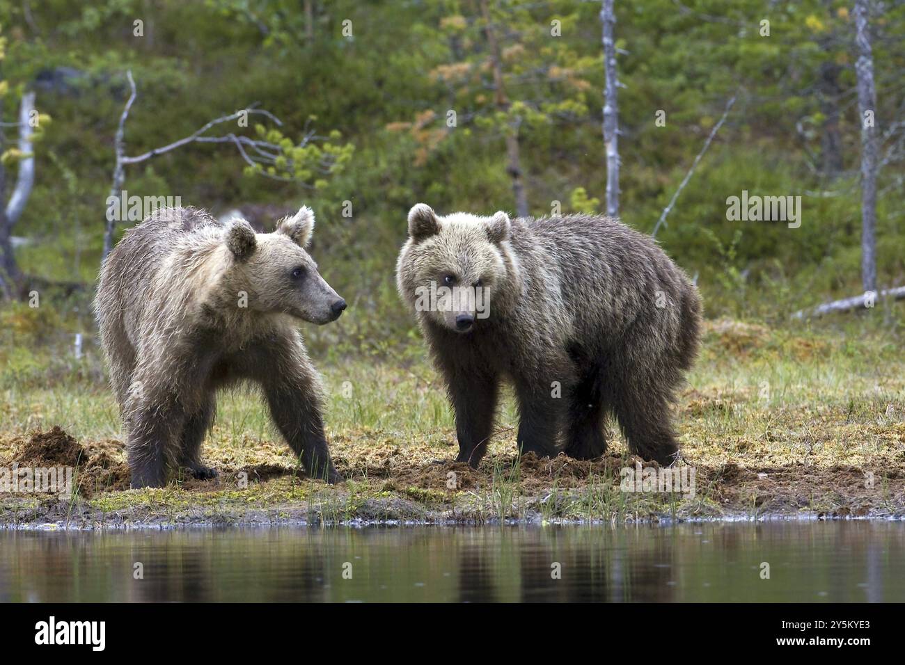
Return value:
[(855, 0), (855, 43), (858, 60), (858, 107), (861, 110), (861, 279), (865, 291), (877, 290), (877, 92), (873, 85), (873, 54), (868, 0)]

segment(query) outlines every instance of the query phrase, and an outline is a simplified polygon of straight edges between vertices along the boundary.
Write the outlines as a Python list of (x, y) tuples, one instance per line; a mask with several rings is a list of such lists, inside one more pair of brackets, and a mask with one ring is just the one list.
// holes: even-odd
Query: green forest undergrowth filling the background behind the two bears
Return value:
[[(310, 342), (334, 354), (405, 354), (416, 333), (393, 271), (414, 202), (447, 212), (511, 210), (503, 138), (517, 132), (533, 213), (548, 214), (555, 201), (565, 212), (603, 209), (599, 9), (489, 1), (488, 23), (480, 0), (44, 0), (27, 11), (0, 2), (3, 119), (14, 121), (26, 86), (42, 114), (33, 195), (14, 228), (28, 241), (17, 259), (29, 275), (90, 291), (131, 69), (138, 99), (126, 127), (129, 155), (255, 103), (282, 124), (256, 117), (233, 129), (268, 144), (260, 166), (233, 146), (195, 144), (129, 166), (129, 194), (179, 195), (214, 214), (248, 203), (310, 204), (319, 220), (312, 252), (350, 303), (348, 317), (313, 331)], [(625, 222), (653, 230), (738, 93), (658, 241), (698, 275), (713, 316), (778, 319), (857, 293), (860, 122), (847, 4), (639, 0), (616, 11)], [(143, 36), (135, 35), (139, 19)], [(502, 100), (488, 27), (499, 43)], [(886, 128), (900, 115), (905, 5), (884, 6), (874, 30), (877, 119)], [(52, 79), (57, 68), (75, 74)], [(44, 83), (35, 86), (36, 78)], [(658, 111), (665, 125), (655, 121)], [(828, 175), (824, 140), (834, 128), (843, 168)], [(10, 183), (21, 155), (14, 130), (6, 135), (0, 156)], [(905, 283), (901, 169), (893, 158), (881, 172), (883, 286)], [(801, 227), (730, 222), (726, 200), (742, 190), (801, 195)], [(346, 202), (352, 217), (343, 216)], [(74, 308), (70, 300), (59, 309)], [(77, 304), (84, 328), (87, 295)]]

